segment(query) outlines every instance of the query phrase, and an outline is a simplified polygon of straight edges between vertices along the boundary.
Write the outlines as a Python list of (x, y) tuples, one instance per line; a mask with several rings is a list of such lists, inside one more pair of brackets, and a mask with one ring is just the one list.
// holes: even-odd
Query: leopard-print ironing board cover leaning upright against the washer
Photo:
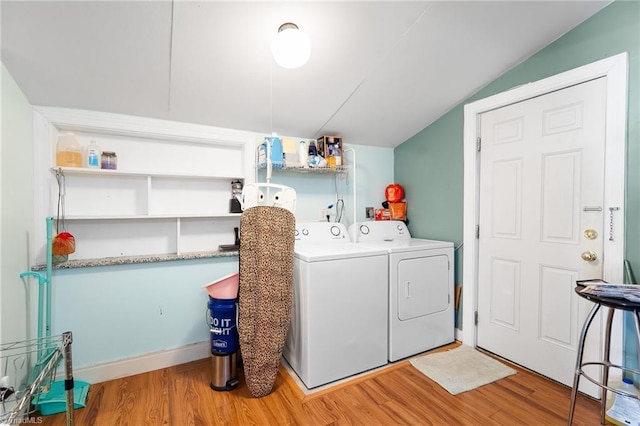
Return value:
[(295, 216), (256, 206), (240, 218), (238, 336), (251, 394), (268, 395), (291, 323)]

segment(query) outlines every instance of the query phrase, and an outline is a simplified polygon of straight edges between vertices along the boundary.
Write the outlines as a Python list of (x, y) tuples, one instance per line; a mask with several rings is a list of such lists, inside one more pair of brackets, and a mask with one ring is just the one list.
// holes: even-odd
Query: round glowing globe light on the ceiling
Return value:
[(271, 41), (271, 53), (282, 68), (300, 68), (311, 57), (311, 41), (296, 24), (287, 22)]

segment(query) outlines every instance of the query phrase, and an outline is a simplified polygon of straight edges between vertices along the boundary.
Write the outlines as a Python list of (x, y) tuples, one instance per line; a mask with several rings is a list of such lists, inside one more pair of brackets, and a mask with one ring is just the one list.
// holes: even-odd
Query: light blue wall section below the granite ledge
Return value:
[(237, 257), (54, 270), (53, 334), (73, 332), (74, 368), (207, 340), (202, 287), (237, 271)]

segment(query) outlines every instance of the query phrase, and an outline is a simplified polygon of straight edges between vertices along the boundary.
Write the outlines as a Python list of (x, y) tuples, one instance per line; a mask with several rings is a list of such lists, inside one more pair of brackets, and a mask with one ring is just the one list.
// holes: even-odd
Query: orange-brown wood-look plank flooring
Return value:
[[(450, 349), (451, 344), (439, 350)], [(512, 365), (512, 367), (514, 367)], [(306, 395), (281, 366), (273, 392), (211, 390), (209, 359), (91, 385), (76, 425), (565, 425), (571, 390), (529, 371), (451, 395), (401, 361)], [(575, 425), (598, 425), (599, 403), (579, 396)], [(43, 417), (64, 425), (64, 413)]]

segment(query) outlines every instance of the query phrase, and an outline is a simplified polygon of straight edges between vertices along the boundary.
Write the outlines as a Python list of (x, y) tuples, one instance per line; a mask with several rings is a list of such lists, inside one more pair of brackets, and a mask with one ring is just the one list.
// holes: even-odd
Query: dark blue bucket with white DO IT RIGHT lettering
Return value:
[(217, 355), (236, 352), (238, 350), (236, 299), (214, 299), (209, 296), (208, 306), (211, 352)]

